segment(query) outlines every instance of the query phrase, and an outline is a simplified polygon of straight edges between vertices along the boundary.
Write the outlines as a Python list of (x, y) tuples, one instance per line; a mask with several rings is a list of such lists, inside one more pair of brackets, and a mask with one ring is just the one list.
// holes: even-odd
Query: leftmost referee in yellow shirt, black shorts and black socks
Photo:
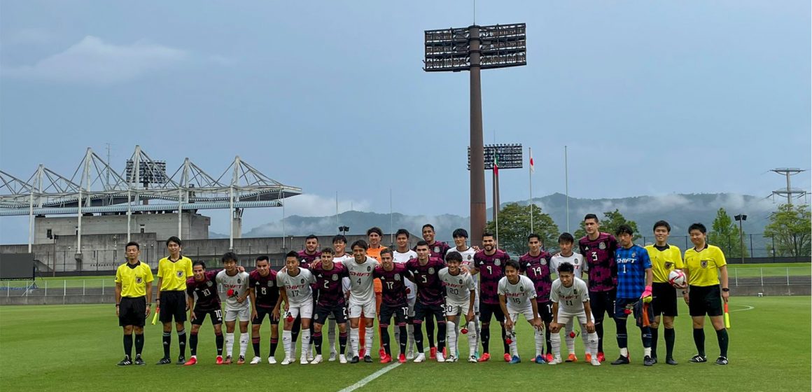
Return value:
[[(152, 270), (138, 260), (140, 247), (129, 242), (124, 248), (127, 262), (115, 271), (115, 315), (124, 328), (124, 359), (119, 366), (145, 364), (141, 359), (144, 349), (144, 321), (149, 316), (152, 302)], [(132, 332), (136, 332), (136, 360), (132, 358)]]

